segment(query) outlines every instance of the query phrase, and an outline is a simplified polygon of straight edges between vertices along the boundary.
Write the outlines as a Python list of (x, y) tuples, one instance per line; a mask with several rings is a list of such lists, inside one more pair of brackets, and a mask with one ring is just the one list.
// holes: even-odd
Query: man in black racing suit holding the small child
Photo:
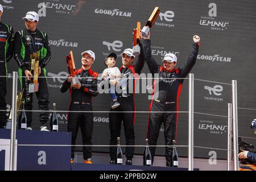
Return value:
[[(134, 124), (135, 124), (135, 84), (136, 81), (134, 77), (141, 73), (144, 66), (144, 53), (142, 44), (139, 43), (141, 47), (141, 53), (136, 61), (135, 65), (132, 65), (135, 60), (133, 55), (133, 49), (127, 48), (122, 53), (122, 67), (120, 72), (124, 77), (127, 77), (127, 97), (124, 97), (122, 93), (117, 93), (117, 101), (120, 106), (115, 109), (110, 109), (109, 114), (109, 129), (110, 129), (110, 145), (117, 145), (117, 137), (120, 137), (121, 123), (123, 121), (123, 128), (125, 130), (126, 145), (135, 144), (134, 136)], [(110, 81), (111, 82), (111, 81)], [(132, 83), (132, 85), (129, 85)], [(114, 83), (117, 84), (117, 83)], [(129, 89), (130, 86), (130, 89)], [(133, 88), (131, 89), (131, 86)], [(121, 89), (122, 90), (122, 89)], [(115, 113), (115, 111), (120, 111), (120, 113)], [(122, 111), (125, 111), (122, 113)], [(126, 111), (129, 111), (126, 113)], [(134, 111), (134, 113), (133, 113)], [(117, 159), (117, 147), (110, 147), (110, 164), (116, 164)], [(134, 155), (134, 147), (126, 147), (126, 164), (131, 165)]]

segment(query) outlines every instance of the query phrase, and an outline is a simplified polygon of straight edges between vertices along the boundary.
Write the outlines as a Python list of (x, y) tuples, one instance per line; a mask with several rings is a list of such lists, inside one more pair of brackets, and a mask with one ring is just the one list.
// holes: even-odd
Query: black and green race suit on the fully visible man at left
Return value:
[[(48, 42), (48, 35), (42, 31), (35, 30), (34, 32), (24, 29), (15, 33), (14, 40), (14, 58), (19, 66), (19, 80), (22, 86), (23, 99), (25, 101), (25, 110), (32, 110), (32, 93), (28, 92), (29, 81), (25, 77), (24, 71), (30, 71), (30, 55), (33, 52), (39, 52), (39, 66), (42, 68), (42, 73), (39, 75), (39, 90), (36, 92), (38, 98), (39, 110), (42, 110), (39, 115), (41, 126), (46, 126), (48, 121), (48, 105), (49, 93), (46, 79), (46, 65), (51, 59), (51, 49)], [(27, 127), (31, 127), (32, 112), (27, 111)]]

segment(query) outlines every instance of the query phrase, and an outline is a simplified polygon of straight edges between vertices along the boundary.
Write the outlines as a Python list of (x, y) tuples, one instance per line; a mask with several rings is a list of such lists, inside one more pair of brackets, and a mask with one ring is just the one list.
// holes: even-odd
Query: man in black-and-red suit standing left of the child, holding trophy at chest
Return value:
[[(75, 71), (80, 83), (71, 85), (71, 77), (63, 82), (60, 86), (60, 91), (66, 92), (68, 89), (71, 94), (71, 102), (69, 111), (81, 111), (81, 113), (68, 113), (68, 132), (72, 132), (72, 145), (76, 144), (76, 137), (79, 127), (82, 133), (82, 144), (92, 145), (92, 130), (93, 130), (93, 113), (82, 111), (92, 111), (92, 97), (98, 95), (97, 77), (98, 73), (90, 68), (95, 60), (94, 52), (88, 50), (81, 53), (82, 67)], [(84, 155), (84, 163), (92, 163), (92, 147), (82, 147)], [(71, 163), (75, 156), (75, 146), (71, 147)]]

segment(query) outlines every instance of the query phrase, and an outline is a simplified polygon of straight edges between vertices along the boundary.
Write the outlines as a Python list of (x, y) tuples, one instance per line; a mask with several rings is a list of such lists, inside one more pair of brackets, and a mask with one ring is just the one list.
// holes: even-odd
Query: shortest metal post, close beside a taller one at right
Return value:
[(232, 104), (228, 104), (228, 171), (231, 171), (232, 157)]

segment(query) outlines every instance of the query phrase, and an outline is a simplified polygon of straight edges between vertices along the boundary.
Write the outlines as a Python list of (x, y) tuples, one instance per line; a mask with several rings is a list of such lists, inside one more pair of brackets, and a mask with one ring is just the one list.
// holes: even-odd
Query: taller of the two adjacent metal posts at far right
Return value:
[(234, 171), (238, 171), (238, 127), (237, 127), (237, 81), (232, 80), (232, 115), (233, 115), (233, 144)]

